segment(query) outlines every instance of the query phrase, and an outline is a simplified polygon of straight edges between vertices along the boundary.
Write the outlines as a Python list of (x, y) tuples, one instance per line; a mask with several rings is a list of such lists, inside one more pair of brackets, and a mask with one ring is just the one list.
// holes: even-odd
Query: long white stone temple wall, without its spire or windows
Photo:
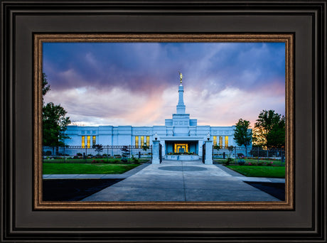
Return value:
[[(103, 146), (122, 146), (122, 145), (135, 145), (135, 136), (139, 136), (139, 145), (141, 145), (141, 136), (144, 136), (144, 143), (146, 142), (146, 136), (150, 136), (150, 145), (154, 140), (154, 134), (160, 136), (202, 136), (203, 141), (200, 141), (198, 146), (198, 153), (201, 156), (202, 144), (207, 138), (207, 134), (210, 134), (210, 140), (213, 141), (213, 136), (217, 136), (217, 142), (219, 143), (219, 136), (223, 136), (223, 146), (225, 146), (225, 136), (228, 136), (228, 146), (237, 146), (234, 140), (234, 126), (68, 126), (66, 135), (70, 136), (70, 139), (65, 140), (65, 144), (68, 146), (81, 146), (82, 136), (85, 136), (85, 145), (87, 143), (87, 136), (96, 136), (96, 144), (102, 144)], [(170, 145), (168, 145), (170, 146)], [(165, 146), (163, 147), (165, 148)], [(249, 148), (250, 149), (250, 148)], [(173, 148), (167, 147), (167, 153), (173, 151)]]

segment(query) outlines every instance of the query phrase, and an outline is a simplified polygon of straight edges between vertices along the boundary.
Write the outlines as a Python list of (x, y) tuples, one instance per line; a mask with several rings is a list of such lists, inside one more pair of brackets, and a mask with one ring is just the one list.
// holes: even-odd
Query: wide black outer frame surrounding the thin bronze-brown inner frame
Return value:
[[(35, 210), (37, 33), (293, 34), (294, 209)], [(1, 1), (1, 242), (326, 242), (326, 95), (326, 1)]]

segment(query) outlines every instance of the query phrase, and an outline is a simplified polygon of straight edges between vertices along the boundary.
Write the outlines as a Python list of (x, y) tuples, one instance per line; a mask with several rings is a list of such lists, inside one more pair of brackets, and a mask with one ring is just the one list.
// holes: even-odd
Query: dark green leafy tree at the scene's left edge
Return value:
[[(46, 79), (45, 73), (42, 74), (42, 95), (50, 91), (50, 85)], [(69, 136), (65, 135), (68, 124), (70, 124), (69, 117), (65, 117), (67, 112), (60, 104), (55, 105), (53, 102), (48, 104), (43, 103), (43, 146), (50, 146), (57, 148), (64, 146), (64, 140), (69, 139)]]

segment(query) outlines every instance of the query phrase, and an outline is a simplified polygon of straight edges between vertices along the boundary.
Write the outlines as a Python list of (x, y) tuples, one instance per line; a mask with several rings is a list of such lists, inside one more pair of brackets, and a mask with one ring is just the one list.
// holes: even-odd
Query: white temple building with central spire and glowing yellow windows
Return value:
[(151, 146), (155, 137), (162, 144), (162, 154), (195, 153), (202, 156), (204, 141), (210, 138), (213, 145), (237, 146), (234, 140), (235, 126), (198, 126), (197, 119), (186, 113), (183, 101), (184, 88), (178, 86), (176, 114), (165, 119), (164, 126), (68, 126), (65, 140), (68, 146), (92, 148), (103, 146)]

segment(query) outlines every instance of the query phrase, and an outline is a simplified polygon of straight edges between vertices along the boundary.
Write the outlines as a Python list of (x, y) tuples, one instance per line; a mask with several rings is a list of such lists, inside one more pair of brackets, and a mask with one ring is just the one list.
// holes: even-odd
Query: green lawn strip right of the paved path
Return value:
[(226, 166), (245, 176), (285, 178), (285, 166)]

